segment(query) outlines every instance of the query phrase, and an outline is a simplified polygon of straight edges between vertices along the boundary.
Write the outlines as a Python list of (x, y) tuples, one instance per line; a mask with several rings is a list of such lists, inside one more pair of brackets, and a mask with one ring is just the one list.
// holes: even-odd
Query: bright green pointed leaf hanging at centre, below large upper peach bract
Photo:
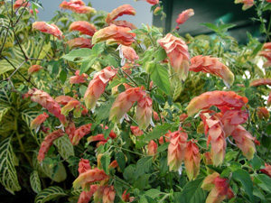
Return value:
[(168, 70), (164, 66), (155, 63), (154, 68), (151, 70), (151, 79), (154, 81), (154, 84), (161, 88), (165, 94), (169, 95), (171, 91), (170, 80), (168, 76)]

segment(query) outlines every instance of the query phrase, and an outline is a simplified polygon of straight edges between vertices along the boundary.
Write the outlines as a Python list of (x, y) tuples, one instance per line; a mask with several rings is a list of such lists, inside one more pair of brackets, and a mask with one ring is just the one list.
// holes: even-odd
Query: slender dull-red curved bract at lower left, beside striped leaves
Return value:
[(52, 132), (51, 134), (46, 135), (46, 137), (44, 138), (41, 144), (39, 155), (37, 157), (38, 161), (42, 162), (44, 160), (45, 153), (48, 152), (49, 148), (51, 147), (52, 142), (63, 135), (64, 135), (64, 132), (61, 129), (56, 130)]

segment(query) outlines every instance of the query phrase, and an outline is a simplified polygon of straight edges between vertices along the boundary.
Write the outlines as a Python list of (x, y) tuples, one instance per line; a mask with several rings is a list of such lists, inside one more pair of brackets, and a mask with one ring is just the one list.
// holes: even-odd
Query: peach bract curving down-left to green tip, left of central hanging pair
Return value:
[(130, 110), (135, 101), (144, 96), (145, 92), (141, 88), (129, 88), (120, 93), (111, 107), (109, 120), (122, 122), (126, 112)]

